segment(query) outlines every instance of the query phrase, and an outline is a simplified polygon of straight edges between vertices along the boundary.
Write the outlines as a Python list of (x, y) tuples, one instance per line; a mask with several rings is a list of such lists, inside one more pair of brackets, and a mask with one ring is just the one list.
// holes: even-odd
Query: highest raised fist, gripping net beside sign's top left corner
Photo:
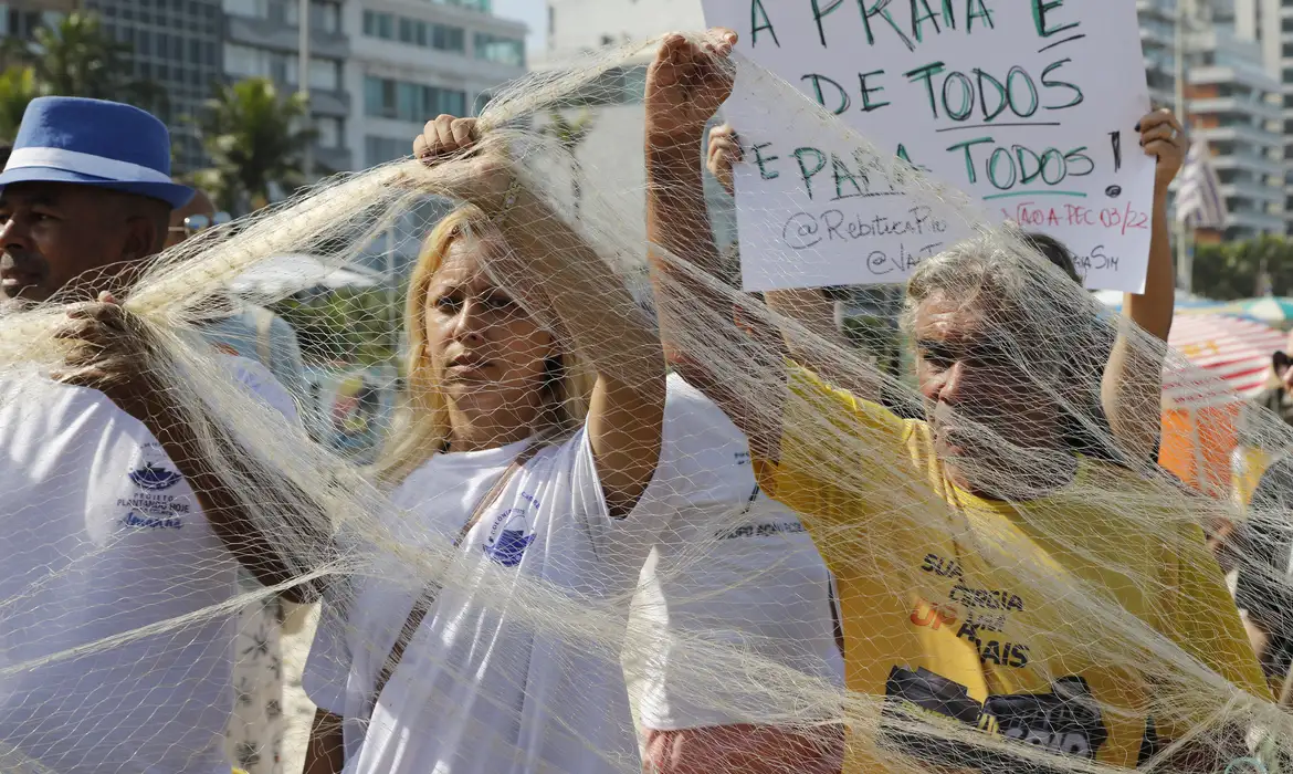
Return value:
[(732, 93), (728, 60), (736, 32), (715, 27), (698, 40), (672, 32), (646, 70), (648, 140), (700, 140), (706, 122)]

